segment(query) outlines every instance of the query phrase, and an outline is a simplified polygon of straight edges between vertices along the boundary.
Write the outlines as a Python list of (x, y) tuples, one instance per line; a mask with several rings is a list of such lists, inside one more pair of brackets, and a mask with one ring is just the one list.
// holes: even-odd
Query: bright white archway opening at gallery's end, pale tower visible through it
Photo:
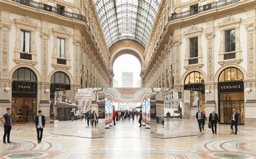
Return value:
[(138, 88), (141, 86), (141, 63), (136, 56), (123, 54), (113, 63), (113, 87)]

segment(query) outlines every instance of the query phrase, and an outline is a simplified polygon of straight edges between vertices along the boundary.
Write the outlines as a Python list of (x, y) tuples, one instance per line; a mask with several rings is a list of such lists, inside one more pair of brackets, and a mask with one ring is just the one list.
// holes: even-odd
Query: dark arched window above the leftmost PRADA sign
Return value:
[(29, 68), (19, 68), (12, 75), (13, 81), (37, 82), (36, 74)]

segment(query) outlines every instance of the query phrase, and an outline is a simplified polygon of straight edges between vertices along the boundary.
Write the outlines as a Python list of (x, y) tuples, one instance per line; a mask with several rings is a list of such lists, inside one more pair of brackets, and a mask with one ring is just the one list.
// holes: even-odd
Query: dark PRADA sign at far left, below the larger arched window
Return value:
[(12, 91), (14, 92), (37, 92), (37, 83), (36, 82), (21, 82), (13, 81), (12, 82)]

